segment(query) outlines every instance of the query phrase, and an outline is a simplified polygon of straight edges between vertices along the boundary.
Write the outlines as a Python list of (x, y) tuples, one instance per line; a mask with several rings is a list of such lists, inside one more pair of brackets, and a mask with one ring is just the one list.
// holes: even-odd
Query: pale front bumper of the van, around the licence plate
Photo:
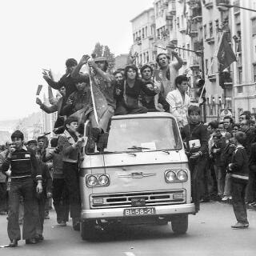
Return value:
[[(130, 218), (124, 216), (125, 209), (136, 209), (137, 207), (129, 207), (129, 208), (112, 208), (112, 209), (90, 209), (90, 210), (82, 210), (81, 218), (82, 219), (95, 219), (95, 218)], [(140, 207), (144, 208), (144, 207)], [(146, 208), (146, 207), (145, 207)], [(156, 217), (156, 216), (168, 216), (168, 215), (176, 215), (176, 214), (195, 214), (194, 203), (175, 205), (175, 206), (154, 206), (155, 214), (146, 215), (147, 217)], [(133, 217), (139, 217), (133, 216)], [(145, 215), (144, 215), (145, 216)]]

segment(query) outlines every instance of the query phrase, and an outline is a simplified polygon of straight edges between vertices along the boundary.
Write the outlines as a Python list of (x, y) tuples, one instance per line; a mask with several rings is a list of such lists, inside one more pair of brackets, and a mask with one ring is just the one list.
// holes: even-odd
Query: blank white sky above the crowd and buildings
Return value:
[(66, 59), (79, 61), (96, 42), (128, 54), (130, 20), (151, 6), (153, 0), (1, 1), (0, 121), (39, 110), (37, 87), (47, 90), (42, 68), (64, 74)]

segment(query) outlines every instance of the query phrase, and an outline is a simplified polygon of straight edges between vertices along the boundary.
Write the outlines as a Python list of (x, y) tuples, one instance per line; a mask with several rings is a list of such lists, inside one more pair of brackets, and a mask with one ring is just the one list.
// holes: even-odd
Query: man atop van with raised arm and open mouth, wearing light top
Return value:
[[(177, 62), (170, 62), (170, 55), (177, 59)], [(158, 54), (156, 62), (160, 67), (161, 77), (161, 92), (163, 98), (166, 98), (166, 95), (175, 89), (175, 78), (178, 76), (178, 70), (182, 67), (183, 61), (182, 58), (178, 56), (178, 52), (171, 50), (170, 55), (168, 54)]]

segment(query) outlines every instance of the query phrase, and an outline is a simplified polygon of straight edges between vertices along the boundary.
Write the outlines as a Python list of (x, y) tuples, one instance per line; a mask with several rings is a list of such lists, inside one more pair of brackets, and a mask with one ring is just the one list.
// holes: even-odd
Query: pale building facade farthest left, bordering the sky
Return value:
[(142, 66), (154, 63), (154, 8), (143, 11), (131, 21), (134, 43), (131, 47), (132, 54), (137, 54), (135, 64)]

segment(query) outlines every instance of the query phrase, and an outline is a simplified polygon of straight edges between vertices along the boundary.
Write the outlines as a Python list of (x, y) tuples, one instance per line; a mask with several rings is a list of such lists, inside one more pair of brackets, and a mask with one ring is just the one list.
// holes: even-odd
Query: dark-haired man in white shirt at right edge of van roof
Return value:
[(190, 106), (190, 97), (186, 94), (188, 78), (178, 75), (175, 78), (176, 90), (170, 91), (166, 96), (166, 102), (170, 105), (170, 114), (173, 114), (178, 121), (178, 126), (183, 127), (188, 123), (187, 110)]

